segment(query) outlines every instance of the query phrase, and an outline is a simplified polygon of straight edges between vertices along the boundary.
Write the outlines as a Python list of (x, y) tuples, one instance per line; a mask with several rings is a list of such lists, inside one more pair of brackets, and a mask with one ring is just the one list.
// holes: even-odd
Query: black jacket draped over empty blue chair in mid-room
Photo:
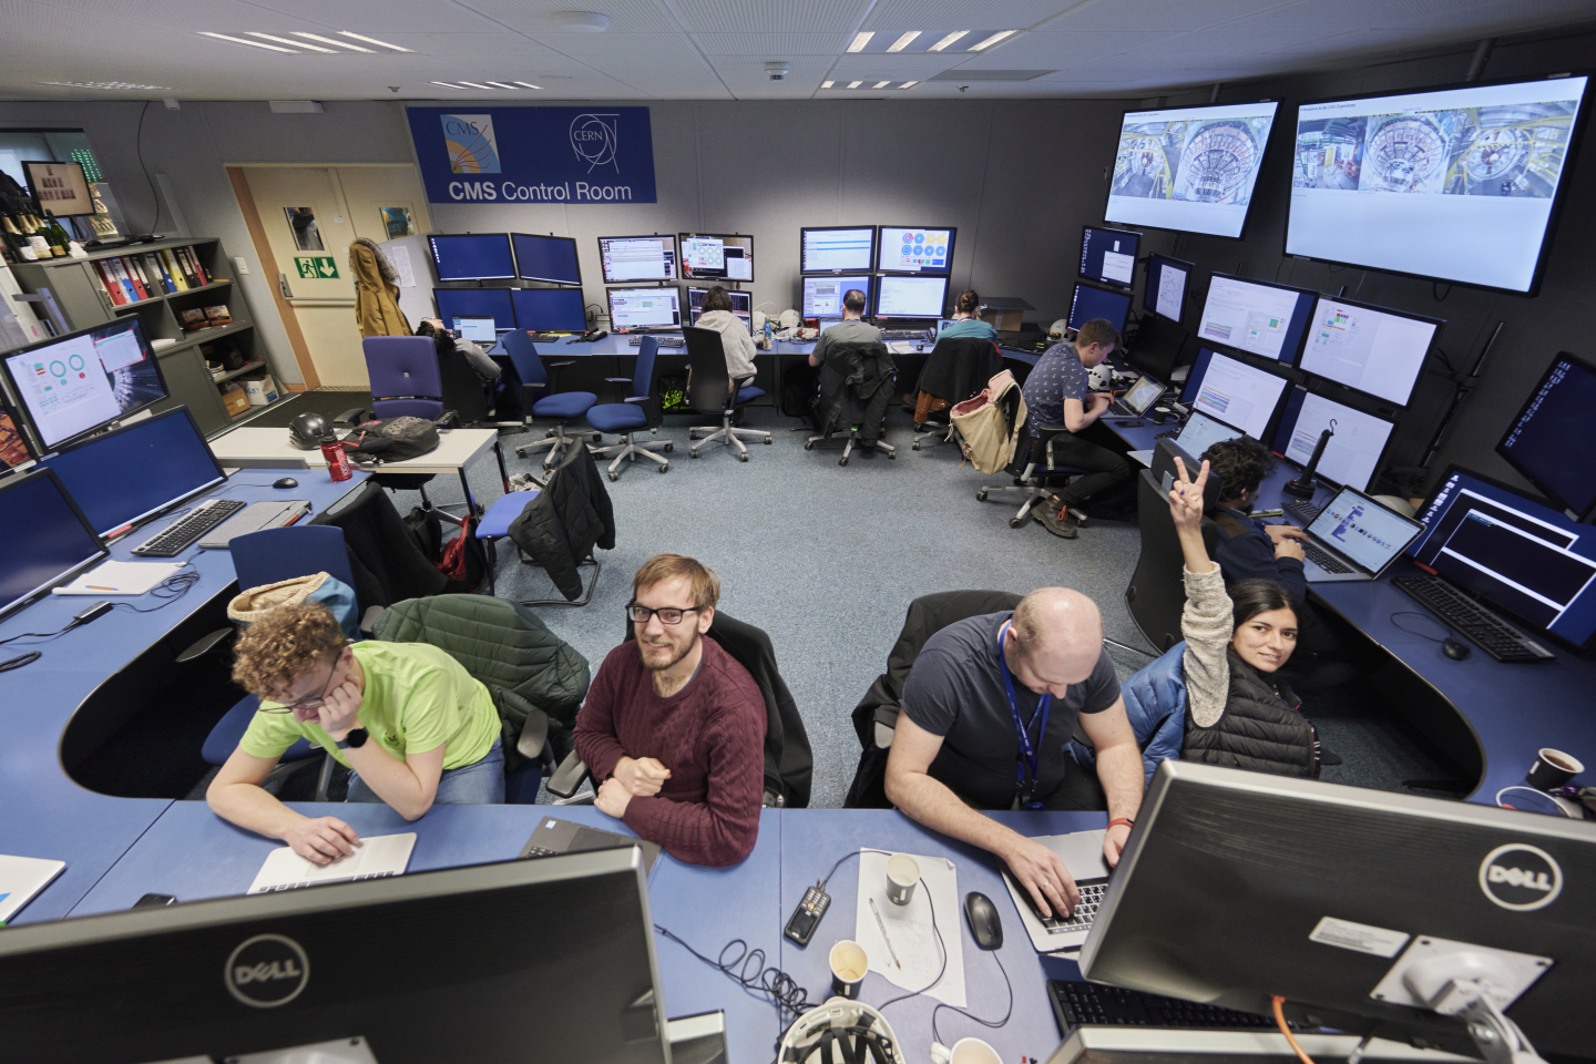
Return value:
[(614, 507), (583, 443), (565, 448), (549, 487), (511, 522), (509, 538), (547, 571), (565, 598), (581, 598), (583, 576), (576, 566), (595, 546), (614, 550)]

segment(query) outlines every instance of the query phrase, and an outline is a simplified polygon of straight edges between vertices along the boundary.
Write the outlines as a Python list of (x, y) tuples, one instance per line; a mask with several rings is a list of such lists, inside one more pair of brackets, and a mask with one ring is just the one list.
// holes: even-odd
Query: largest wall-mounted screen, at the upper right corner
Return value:
[(1286, 254), (1532, 292), (1588, 80), (1302, 104)]

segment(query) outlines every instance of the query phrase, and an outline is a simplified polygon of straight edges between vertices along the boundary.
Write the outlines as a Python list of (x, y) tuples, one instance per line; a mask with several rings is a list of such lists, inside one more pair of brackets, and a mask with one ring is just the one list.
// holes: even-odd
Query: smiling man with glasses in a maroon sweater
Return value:
[(760, 834), (764, 699), (715, 640), (720, 579), (659, 554), (632, 577), (635, 640), (610, 651), (576, 716), (594, 804), (693, 865), (736, 865)]

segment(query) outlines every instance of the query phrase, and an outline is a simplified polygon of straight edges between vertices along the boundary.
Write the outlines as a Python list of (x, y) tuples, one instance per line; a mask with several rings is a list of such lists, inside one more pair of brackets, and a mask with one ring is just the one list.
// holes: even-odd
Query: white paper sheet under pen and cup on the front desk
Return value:
[[(887, 901), (887, 853), (862, 850), (859, 855), (859, 911), (854, 917), (854, 941), (865, 948), (870, 970), (884, 975), (905, 991), (922, 991), (942, 968), (942, 949), (948, 951), (948, 967), (926, 991), (930, 997), (964, 1008), (964, 935), (959, 930), (959, 879), (953, 861), (945, 857), (921, 857), (919, 885), (907, 906)], [(875, 911), (870, 903), (875, 901)], [(930, 906), (935, 906), (935, 928)], [(881, 920), (876, 920), (876, 912)], [(881, 928), (886, 927), (886, 938)], [(942, 932), (938, 944), (937, 930)], [(895, 960), (894, 960), (895, 957)]]

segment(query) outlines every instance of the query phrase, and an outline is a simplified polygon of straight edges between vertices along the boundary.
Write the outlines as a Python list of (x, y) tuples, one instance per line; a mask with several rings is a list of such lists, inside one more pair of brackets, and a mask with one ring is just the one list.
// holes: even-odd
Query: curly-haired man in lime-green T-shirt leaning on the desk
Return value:
[(303, 817), (260, 786), (298, 739), (350, 769), (351, 802), (388, 802), (405, 820), (434, 802), (504, 801), (493, 697), (436, 646), (351, 644), (326, 606), (278, 606), (239, 635), (233, 680), (260, 697), (260, 711), (206, 801), (310, 861), (327, 865), (361, 839), (337, 817)]

